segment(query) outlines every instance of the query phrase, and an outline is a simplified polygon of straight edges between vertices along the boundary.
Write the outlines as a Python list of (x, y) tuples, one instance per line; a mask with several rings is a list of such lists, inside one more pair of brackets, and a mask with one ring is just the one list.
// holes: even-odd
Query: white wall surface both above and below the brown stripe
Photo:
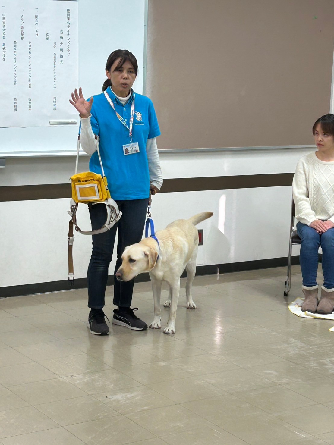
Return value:
[[(166, 153), (161, 154), (161, 164), (165, 178), (291, 173), (297, 159), (309, 152)], [(0, 186), (66, 183), (74, 163), (73, 157), (8, 159), (0, 169)], [(88, 156), (82, 156), (79, 170), (87, 168)], [(290, 200), (290, 186), (162, 193), (153, 198), (152, 214), (158, 230), (177, 218), (213, 211), (214, 216), (199, 225), (204, 229), (204, 246), (199, 248), (197, 263), (235, 263), (287, 255)], [(0, 202), (0, 287), (67, 278), (68, 207), (67, 198)], [(90, 227), (83, 204), (78, 220), (82, 227)], [(82, 278), (91, 239), (75, 236), (75, 275)], [(293, 250), (297, 253), (298, 248)], [(115, 259), (110, 274), (114, 263)]]

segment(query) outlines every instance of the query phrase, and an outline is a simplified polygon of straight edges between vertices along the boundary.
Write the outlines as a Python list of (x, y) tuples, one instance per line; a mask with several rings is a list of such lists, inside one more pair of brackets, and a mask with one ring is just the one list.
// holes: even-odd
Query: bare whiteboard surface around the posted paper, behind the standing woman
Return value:
[[(78, 0), (79, 85), (70, 85), (70, 91), (81, 86), (85, 97), (102, 93), (109, 54), (115, 49), (128, 49), (138, 61), (133, 89), (143, 93), (146, 9), (145, 0)], [(68, 106), (73, 105), (68, 102)], [(12, 157), (74, 153), (79, 115), (77, 120), (77, 125), (1, 128), (0, 158), (6, 158), (6, 154)]]

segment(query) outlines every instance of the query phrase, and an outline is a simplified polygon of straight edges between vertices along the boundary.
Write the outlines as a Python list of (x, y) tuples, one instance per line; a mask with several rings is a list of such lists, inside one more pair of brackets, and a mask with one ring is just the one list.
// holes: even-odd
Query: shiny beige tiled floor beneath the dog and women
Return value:
[[(173, 336), (91, 335), (86, 290), (0, 299), (0, 443), (334, 445), (334, 321), (289, 312), (285, 271), (196, 277), (196, 310), (183, 280)], [(135, 292), (149, 323), (150, 283)]]

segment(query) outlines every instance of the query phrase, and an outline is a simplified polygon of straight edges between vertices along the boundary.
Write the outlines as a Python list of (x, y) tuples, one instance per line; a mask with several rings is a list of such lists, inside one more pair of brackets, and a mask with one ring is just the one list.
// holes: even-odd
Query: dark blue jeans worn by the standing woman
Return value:
[[(108, 280), (108, 269), (113, 257), (116, 232), (118, 231), (117, 262), (115, 272), (122, 264), (121, 256), (125, 247), (139, 243), (143, 236), (148, 205), (147, 199), (116, 201), (122, 217), (107, 232), (93, 235), (93, 251), (87, 271), (88, 307), (102, 309)], [(89, 204), (92, 230), (97, 230), (106, 222), (106, 206)], [(134, 280), (114, 281), (114, 305), (130, 307)]]

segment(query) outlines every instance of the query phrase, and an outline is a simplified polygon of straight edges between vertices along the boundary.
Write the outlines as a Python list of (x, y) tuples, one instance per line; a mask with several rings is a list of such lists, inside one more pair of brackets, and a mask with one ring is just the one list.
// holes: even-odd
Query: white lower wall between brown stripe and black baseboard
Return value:
[[(211, 210), (199, 224), (204, 245), (198, 265), (236, 263), (287, 255), (291, 187), (159, 194), (153, 198), (156, 230), (178, 218)], [(0, 202), (0, 287), (67, 279), (69, 199)], [(78, 221), (90, 227), (87, 206)], [(91, 237), (75, 234), (76, 278), (86, 276)], [(113, 259), (110, 275), (114, 273)]]

